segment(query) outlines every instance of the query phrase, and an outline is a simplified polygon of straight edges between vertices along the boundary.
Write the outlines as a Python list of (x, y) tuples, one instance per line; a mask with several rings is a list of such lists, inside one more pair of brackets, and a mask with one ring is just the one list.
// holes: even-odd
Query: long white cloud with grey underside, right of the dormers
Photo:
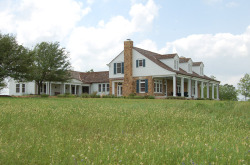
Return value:
[(236, 85), (245, 73), (250, 73), (250, 26), (243, 34), (196, 34), (166, 43), (162, 53), (176, 47), (180, 56), (203, 61), (205, 73), (222, 83)]

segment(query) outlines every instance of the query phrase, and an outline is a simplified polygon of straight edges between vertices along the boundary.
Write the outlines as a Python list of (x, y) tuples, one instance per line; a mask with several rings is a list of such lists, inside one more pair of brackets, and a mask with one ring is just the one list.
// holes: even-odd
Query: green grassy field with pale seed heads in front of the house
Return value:
[(248, 164), (250, 102), (0, 98), (0, 164)]

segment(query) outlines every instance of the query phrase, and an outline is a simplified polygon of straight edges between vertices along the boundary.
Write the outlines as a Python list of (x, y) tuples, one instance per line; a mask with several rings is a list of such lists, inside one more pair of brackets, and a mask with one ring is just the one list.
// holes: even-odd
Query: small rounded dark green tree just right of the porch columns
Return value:
[(233, 85), (225, 84), (219, 87), (220, 99), (221, 100), (233, 100), (237, 101), (237, 90)]

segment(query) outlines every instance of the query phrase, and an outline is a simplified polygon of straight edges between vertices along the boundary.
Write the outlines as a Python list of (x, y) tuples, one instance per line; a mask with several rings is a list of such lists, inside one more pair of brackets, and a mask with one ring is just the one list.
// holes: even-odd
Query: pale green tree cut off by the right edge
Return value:
[(245, 96), (245, 101), (247, 100), (247, 97), (250, 97), (250, 75), (245, 74), (243, 78), (240, 79), (240, 82), (238, 83), (238, 90), (239, 92)]

